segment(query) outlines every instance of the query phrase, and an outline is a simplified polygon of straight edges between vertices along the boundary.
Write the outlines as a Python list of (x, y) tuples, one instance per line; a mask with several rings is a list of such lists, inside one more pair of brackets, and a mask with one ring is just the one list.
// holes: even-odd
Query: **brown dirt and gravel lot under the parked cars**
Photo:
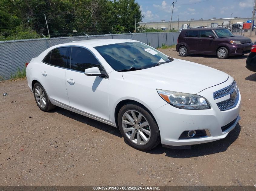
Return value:
[[(253, 39), (253, 40), (256, 40)], [(38, 109), (26, 80), (0, 83), (1, 185), (255, 185), (256, 74), (247, 55), (178, 56), (233, 76), (241, 120), (220, 141), (190, 150), (128, 146), (117, 128), (70, 111)], [(2, 93), (8, 93), (2, 96)], [(30, 118), (31, 116), (31, 118)]]

